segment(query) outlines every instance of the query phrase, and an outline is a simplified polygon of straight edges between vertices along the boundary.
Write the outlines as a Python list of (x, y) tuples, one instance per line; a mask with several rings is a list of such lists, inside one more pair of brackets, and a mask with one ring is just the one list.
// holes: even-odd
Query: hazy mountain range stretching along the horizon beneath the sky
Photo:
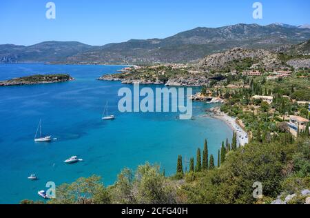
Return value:
[(272, 23), (239, 23), (220, 28), (195, 28), (165, 39), (132, 39), (105, 46), (78, 42), (44, 42), (34, 46), (0, 46), (0, 62), (167, 63), (196, 61), (234, 47), (271, 49), (310, 39), (310, 29)]

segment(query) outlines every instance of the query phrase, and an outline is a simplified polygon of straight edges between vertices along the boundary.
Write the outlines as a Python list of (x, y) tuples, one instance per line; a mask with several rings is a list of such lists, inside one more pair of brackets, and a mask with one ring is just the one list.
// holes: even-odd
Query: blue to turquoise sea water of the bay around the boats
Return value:
[[(221, 141), (231, 139), (225, 123), (202, 116), (211, 107), (206, 103), (194, 103), (194, 120), (179, 120), (172, 112), (118, 112), (118, 89), (132, 86), (96, 79), (121, 68), (0, 65), (0, 80), (61, 72), (75, 78), (65, 83), (0, 87), (0, 204), (37, 200), (37, 191), (45, 189), (48, 181), (59, 185), (96, 174), (105, 185), (113, 184), (122, 168), (134, 169), (146, 161), (161, 164), (166, 175), (172, 175), (177, 156), (196, 157), (205, 138), (215, 157)], [(116, 115), (114, 121), (101, 120), (106, 101)], [(43, 132), (57, 141), (34, 143), (39, 119)], [(84, 161), (63, 164), (73, 155)], [(39, 180), (28, 181), (30, 174)]]

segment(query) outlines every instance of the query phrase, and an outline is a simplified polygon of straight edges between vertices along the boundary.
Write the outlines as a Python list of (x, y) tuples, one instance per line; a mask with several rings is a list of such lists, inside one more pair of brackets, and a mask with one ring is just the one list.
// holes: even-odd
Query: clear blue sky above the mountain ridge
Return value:
[[(101, 46), (165, 38), (198, 26), (310, 23), (309, 0), (50, 0), (56, 4), (54, 20), (45, 17), (48, 1), (0, 1), (0, 43), (56, 40)], [(256, 1), (262, 3), (262, 19), (252, 17)]]

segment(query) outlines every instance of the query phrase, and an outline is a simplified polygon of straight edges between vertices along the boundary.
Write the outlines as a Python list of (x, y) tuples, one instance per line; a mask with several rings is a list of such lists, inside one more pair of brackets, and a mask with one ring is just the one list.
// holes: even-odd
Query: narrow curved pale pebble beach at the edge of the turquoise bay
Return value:
[(249, 136), (247, 132), (245, 132), (245, 130), (243, 130), (241, 126), (236, 123), (235, 117), (229, 117), (229, 115), (221, 112), (218, 107), (211, 108), (211, 112), (208, 116), (223, 121), (227, 126), (229, 126), (229, 128), (231, 128), (231, 130), (237, 132), (237, 143), (240, 143), (241, 146), (245, 146), (246, 143), (249, 143)]

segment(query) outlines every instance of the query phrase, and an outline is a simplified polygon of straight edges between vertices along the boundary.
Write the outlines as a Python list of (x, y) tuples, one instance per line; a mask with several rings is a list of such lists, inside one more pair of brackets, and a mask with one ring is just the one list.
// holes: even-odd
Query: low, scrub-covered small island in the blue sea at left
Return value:
[(20, 77), (0, 81), (0, 86), (22, 86), (22, 85), (34, 85), (41, 83), (59, 83), (64, 81), (71, 81), (74, 78), (68, 74), (54, 74), (54, 75), (32, 75), (29, 77)]

